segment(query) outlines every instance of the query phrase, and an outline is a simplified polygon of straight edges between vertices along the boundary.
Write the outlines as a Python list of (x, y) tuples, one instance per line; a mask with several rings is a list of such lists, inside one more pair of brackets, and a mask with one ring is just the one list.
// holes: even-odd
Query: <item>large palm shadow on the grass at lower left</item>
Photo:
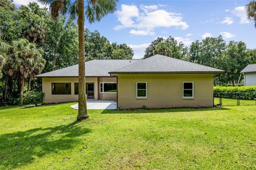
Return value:
[(0, 135), (0, 167), (18, 168), (32, 163), (36, 157), (73, 148), (81, 141), (76, 137), (91, 132), (76, 124), (78, 122)]

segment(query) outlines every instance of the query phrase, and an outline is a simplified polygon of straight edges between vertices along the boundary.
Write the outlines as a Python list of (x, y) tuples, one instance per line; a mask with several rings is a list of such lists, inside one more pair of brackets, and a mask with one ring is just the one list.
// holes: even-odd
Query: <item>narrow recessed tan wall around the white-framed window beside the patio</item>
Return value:
[[(99, 78), (99, 88), (100, 89), (100, 83), (102, 82), (106, 82), (106, 83), (110, 83), (110, 82), (116, 82), (117, 78), (116, 77), (112, 77), (112, 78)], [(114, 100), (116, 101), (117, 99), (117, 93), (102, 93), (99, 92), (99, 100)]]

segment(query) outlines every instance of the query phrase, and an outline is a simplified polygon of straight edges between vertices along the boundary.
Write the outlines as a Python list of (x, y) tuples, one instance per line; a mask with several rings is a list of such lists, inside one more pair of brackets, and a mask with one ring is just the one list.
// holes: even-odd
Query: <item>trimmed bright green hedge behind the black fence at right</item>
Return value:
[(256, 99), (256, 86), (241, 87), (213, 87), (214, 97), (238, 98), (239, 99)]

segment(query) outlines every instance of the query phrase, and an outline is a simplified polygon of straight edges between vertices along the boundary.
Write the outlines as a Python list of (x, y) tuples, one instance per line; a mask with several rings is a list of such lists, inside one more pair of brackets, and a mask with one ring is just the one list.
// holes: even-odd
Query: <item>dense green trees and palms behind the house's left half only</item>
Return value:
[[(86, 29), (85, 54), (86, 61), (132, 59), (133, 50)], [(43, 60), (31, 60), (42, 59), (39, 56)], [(73, 20), (65, 16), (52, 19), (47, 8), (37, 3), (17, 8), (9, 0), (0, 0), (0, 105), (19, 104), (22, 77), (26, 103), (26, 92), (42, 89), (41, 79), (35, 80), (34, 75), (77, 63), (78, 28)], [(23, 70), (25, 67), (29, 69)]]

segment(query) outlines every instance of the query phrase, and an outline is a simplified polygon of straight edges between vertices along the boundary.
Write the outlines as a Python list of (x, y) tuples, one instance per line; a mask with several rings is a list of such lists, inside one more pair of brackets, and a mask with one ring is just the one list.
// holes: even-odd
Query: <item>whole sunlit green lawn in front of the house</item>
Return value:
[(0, 169), (256, 169), (256, 106), (0, 108)]

